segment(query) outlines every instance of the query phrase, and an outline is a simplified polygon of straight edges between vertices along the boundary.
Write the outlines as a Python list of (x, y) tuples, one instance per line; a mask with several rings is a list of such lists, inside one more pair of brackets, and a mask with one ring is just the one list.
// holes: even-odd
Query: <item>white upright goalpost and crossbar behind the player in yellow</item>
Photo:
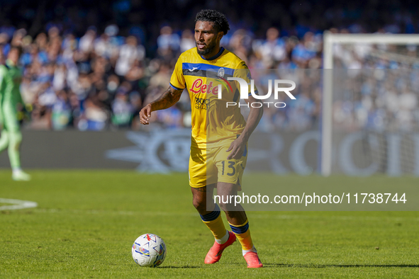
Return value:
[(333, 44), (388, 44), (419, 45), (419, 34), (335, 34), (323, 33), (323, 98), (321, 122), (320, 173), (330, 176), (332, 171), (333, 125)]

